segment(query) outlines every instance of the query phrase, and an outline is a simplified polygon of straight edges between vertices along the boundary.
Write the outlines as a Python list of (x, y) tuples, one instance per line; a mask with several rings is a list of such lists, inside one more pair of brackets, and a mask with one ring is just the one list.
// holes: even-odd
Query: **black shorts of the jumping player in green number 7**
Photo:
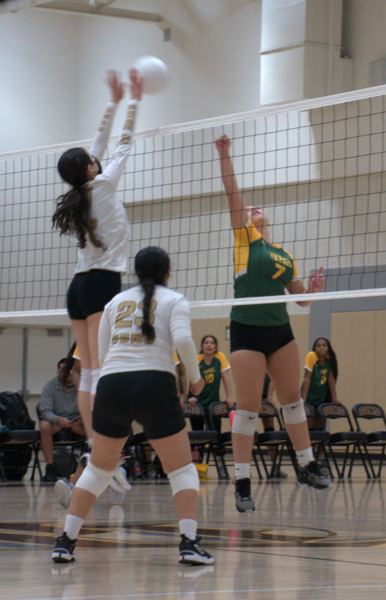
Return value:
[(245, 325), (231, 320), (231, 352), (254, 350), (269, 356), (294, 340), (290, 323), (285, 325)]

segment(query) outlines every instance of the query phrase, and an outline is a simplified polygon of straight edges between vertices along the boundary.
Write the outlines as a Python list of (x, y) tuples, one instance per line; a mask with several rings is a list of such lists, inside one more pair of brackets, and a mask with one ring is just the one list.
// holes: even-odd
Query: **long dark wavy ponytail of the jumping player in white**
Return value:
[(59, 158), (59, 174), (73, 187), (59, 196), (58, 208), (52, 217), (52, 226), (60, 229), (61, 235), (68, 233), (76, 236), (80, 248), (86, 247), (86, 234), (88, 234), (95, 247), (105, 250), (105, 245), (94, 233), (96, 224), (89, 218), (91, 190), (86, 185), (89, 164), (93, 164), (92, 160), (83, 148), (70, 148)]

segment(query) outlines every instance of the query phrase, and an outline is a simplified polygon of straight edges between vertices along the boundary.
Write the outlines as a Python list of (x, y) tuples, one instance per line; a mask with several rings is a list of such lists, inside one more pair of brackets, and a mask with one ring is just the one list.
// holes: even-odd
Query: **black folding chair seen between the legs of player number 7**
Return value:
[[(264, 471), (266, 472), (267, 479), (273, 478), (276, 467), (278, 467), (278, 469), (280, 469), (283, 452), (284, 452), (285, 448), (287, 448), (288, 454), (290, 455), (290, 458), (291, 458), (292, 465), (294, 466), (294, 469), (295, 469), (295, 473), (297, 473), (297, 471), (298, 471), (297, 461), (296, 461), (296, 457), (294, 455), (294, 450), (292, 448), (291, 439), (290, 439), (290, 436), (288, 435), (287, 431), (285, 431), (285, 429), (283, 427), (281, 418), (279, 416), (278, 409), (276, 408), (276, 406), (272, 406), (272, 404), (270, 404), (269, 402), (265, 402), (263, 400), (263, 402), (261, 403), (261, 409), (260, 409), (259, 416), (261, 419), (266, 419), (267, 417), (272, 416), (274, 419), (276, 419), (276, 422), (279, 425), (278, 431), (264, 431), (264, 433), (257, 433), (257, 431), (255, 432), (254, 446), (256, 446), (256, 448), (258, 449), (258, 452), (259, 452), (259, 455), (261, 458), (261, 462), (263, 463)], [(263, 456), (262, 446), (264, 446), (264, 447), (268, 446), (269, 448), (276, 449), (275, 459), (273, 460), (270, 472), (268, 472), (268, 469), (267, 469), (266, 460), (264, 459), (264, 456)], [(280, 449), (280, 452), (279, 452), (279, 449)], [(279, 461), (277, 463), (276, 459), (278, 458), (278, 455), (279, 455)]]

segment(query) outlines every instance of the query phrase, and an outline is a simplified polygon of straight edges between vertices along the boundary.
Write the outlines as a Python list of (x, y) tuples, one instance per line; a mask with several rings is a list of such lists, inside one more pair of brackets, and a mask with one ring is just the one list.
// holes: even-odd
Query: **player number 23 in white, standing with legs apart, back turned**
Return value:
[(173, 358), (177, 348), (192, 382), (192, 394), (200, 394), (204, 380), (192, 340), (189, 304), (180, 293), (165, 287), (170, 260), (161, 248), (138, 252), (135, 273), (140, 285), (115, 296), (102, 315), (101, 377), (92, 414), (91, 459), (74, 489), (52, 559), (74, 560), (83, 521), (111, 481), (135, 419), (143, 425), (170, 481), (181, 535), (179, 562), (212, 565), (213, 557), (203, 550), (197, 536), (200, 482), (177, 397)]

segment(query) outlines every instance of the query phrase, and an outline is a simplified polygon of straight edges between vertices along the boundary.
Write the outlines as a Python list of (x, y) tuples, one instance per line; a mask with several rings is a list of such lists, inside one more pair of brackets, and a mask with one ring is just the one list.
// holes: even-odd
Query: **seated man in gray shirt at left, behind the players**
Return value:
[(85, 436), (85, 428), (77, 406), (76, 386), (70, 376), (62, 382), (61, 373), (65, 358), (58, 362), (56, 377), (46, 383), (40, 395), (40, 442), (47, 461), (43, 481), (56, 481), (58, 473), (53, 462), (52, 436), (61, 429), (71, 428), (74, 433)]

